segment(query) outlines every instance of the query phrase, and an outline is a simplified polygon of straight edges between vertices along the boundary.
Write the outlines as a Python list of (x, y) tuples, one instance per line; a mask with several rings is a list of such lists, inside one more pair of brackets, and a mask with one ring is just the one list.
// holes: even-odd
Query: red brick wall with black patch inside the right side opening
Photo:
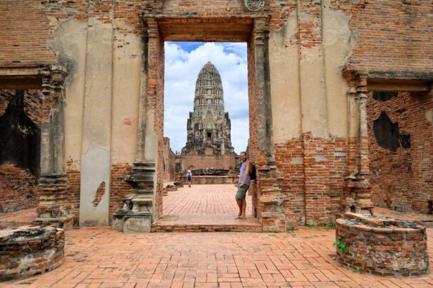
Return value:
[[(386, 101), (368, 94), (368, 136), (372, 200), (375, 206), (432, 213), (433, 97), (426, 93), (399, 92)], [(410, 148), (382, 148), (373, 121), (385, 112), (398, 123), (399, 134), (410, 134)]]

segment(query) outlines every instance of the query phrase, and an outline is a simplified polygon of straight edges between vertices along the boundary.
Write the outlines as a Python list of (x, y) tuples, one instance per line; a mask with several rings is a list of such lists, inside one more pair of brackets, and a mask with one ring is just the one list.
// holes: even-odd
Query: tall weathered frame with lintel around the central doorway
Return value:
[[(284, 196), (276, 174), (273, 152), (271, 89), (268, 61), (268, 17), (221, 17), (188, 18), (142, 15), (143, 63), (140, 88), (140, 112), (135, 171), (127, 176), (137, 191), (134, 179), (141, 166), (154, 165), (152, 220), (162, 216), (163, 188), (163, 125), (164, 125), (164, 41), (244, 41), (248, 43), (249, 57), (249, 153), (257, 167), (254, 188), (254, 216), (264, 230), (285, 231), (286, 218), (283, 214)], [(216, 24), (219, 29), (215, 29)], [(197, 31), (207, 31), (198, 34)], [(182, 29), (187, 33), (182, 34)], [(236, 33), (230, 33), (231, 29)], [(212, 32), (213, 31), (213, 32)], [(221, 32), (223, 31), (223, 32)], [(226, 33), (224, 33), (226, 31)], [(228, 33), (227, 33), (228, 31)], [(152, 169), (150, 169), (152, 170)], [(147, 181), (151, 176), (147, 170)], [(149, 188), (149, 185), (145, 185)], [(254, 186), (254, 187), (253, 187)], [(131, 193), (133, 197), (133, 193)], [(135, 194), (137, 198), (137, 193)], [(141, 206), (140, 206), (141, 207)], [(149, 206), (137, 212), (149, 210)], [(125, 221), (121, 220), (120, 222)], [(113, 223), (115, 220), (113, 220)], [(124, 223), (124, 222), (122, 222)], [(142, 223), (141, 223), (142, 224)], [(137, 228), (137, 225), (134, 227)], [(123, 224), (122, 224), (123, 225)], [(125, 225), (119, 230), (125, 231)], [(140, 228), (137, 228), (140, 230)], [(142, 228), (142, 231), (145, 232)], [(130, 232), (130, 231), (126, 231)]]

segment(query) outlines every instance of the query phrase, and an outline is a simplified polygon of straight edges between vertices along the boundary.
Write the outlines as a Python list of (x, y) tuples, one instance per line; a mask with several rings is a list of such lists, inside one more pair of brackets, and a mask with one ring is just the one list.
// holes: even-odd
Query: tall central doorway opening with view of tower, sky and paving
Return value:
[[(165, 42), (164, 197), (157, 223), (239, 224), (234, 196), (239, 154), (249, 139), (247, 62), (245, 42)], [(246, 200), (247, 219), (257, 223), (251, 193)]]

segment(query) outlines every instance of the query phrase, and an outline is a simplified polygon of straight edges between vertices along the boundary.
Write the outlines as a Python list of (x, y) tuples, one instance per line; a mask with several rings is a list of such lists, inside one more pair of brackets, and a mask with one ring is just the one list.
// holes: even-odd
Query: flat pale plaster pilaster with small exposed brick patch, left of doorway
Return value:
[[(113, 28), (88, 18), (81, 154), (80, 225), (108, 225)], [(93, 201), (103, 185), (98, 205)]]

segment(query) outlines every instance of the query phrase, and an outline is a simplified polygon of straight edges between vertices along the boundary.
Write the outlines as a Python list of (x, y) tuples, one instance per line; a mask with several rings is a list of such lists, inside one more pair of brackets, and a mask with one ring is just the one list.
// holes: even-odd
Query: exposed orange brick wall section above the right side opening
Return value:
[(355, 69), (432, 72), (432, 1), (332, 2), (353, 14), (350, 29), (358, 43), (349, 63)]

